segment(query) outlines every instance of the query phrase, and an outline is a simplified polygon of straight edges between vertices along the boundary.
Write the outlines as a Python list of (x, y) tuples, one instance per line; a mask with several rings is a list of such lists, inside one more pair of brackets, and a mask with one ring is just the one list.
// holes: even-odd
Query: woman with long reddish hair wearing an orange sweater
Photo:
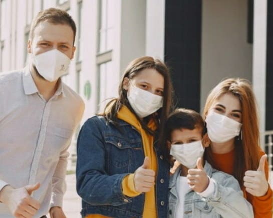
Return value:
[(268, 163), (259, 147), (256, 101), (246, 79), (228, 78), (209, 93), (203, 112), (211, 140), (205, 159), (232, 174), (252, 204), (254, 217), (272, 217)]

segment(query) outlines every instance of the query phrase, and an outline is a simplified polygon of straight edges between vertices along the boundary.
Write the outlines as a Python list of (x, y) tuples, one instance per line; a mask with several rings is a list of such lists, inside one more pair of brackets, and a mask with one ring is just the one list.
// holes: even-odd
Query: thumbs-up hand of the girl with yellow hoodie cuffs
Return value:
[(155, 171), (149, 168), (150, 159), (145, 156), (143, 164), (134, 173), (134, 184), (137, 192), (149, 192), (154, 186)]

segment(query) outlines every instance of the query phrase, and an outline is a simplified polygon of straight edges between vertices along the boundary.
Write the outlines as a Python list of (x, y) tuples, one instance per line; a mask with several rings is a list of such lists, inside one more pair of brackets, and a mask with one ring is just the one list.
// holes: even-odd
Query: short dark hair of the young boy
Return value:
[(170, 140), (172, 131), (181, 128), (200, 128), (202, 135), (205, 133), (202, 116), (192, 109), (177, 108), (169, 115), (165, 125), (166, 138)]

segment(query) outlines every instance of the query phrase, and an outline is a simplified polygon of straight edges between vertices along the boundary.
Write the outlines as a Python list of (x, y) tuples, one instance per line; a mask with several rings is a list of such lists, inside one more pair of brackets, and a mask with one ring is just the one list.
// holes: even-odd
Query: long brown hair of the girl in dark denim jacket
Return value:
[[(123, 81), (125, 77), (132, 79), (140, 71), (146, 68), (153, 68), (164, 77), (163, 106), (153, 114), (141, 120), (128, 101), (127, 91), (123, 88)], [(117, 125), (117, 112), (122, 105), (126, 105), (130, 111), (135, 114), (138, 121), (141, 123), (142, 128), (145, 129), (145, 131), (148, 133), (155, 135), (155, 132), (147, 127), (147, 121), (151, 118), (151, 116), (153, 116), (157, 122), (157, 126), (159, 127), (159, 141), (162, 141), (160, 136), (163, 135), (163, 126), (165, 125), (167, 116), (172, 108), (172, 90), (170, 73), (165, 63), (151, 56), (142, 56), (136, 58), (129, 63), (124, 71), (122, 79), (119, 83), (119, 96), (117, 98), (113, 98), (106, 104), (104, 112), (101, 115), (105, 116), (108, 121)]]

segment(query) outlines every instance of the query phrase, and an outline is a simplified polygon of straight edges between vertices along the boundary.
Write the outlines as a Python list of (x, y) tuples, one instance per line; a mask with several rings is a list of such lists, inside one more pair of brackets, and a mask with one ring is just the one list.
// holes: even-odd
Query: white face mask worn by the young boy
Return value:
[(196, 167), (196, 161), (203, 156), (203, 153), (201, 140), (186, 144), (172, 144), (170, 150), (170, 154), (189, 169)]

